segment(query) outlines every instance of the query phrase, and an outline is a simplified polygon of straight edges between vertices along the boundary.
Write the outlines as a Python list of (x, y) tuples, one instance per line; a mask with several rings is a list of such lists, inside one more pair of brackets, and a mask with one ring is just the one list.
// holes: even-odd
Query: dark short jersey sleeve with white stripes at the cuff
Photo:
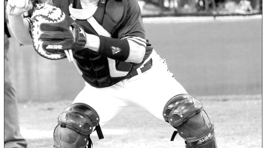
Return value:
[(137, 0), (128, 0), (126, 24), (118, 32), (118, 38), (129, 39), (146, 47), (145, 30)]

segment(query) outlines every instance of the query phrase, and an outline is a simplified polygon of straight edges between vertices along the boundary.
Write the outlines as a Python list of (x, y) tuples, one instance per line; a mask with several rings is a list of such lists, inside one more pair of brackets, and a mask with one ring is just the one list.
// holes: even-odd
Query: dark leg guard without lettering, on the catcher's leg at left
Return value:
[(67, 107), (58, 117), (58, 125), (54, 129), (55, 148), (91, 147), (90, 134), (96, 130), (99, 139), (104, 138), (99, 115), (84, 103), (74, 103)]

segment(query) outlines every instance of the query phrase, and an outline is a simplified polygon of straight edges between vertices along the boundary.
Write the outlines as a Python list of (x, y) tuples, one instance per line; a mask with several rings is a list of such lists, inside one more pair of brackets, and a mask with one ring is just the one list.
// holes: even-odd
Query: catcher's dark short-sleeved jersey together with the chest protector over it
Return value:
[[(129, 39), (146, 47), (145, 31), (137, 0), (107, 0), (106, 3), (102, 1), (99, 1), (98, 11), (93, 17), (111, 34), (111, 37)], [(54, 5), (56, 6), (56, 0)], [(75, 7), (78, 8), (78, 4)], [(67, 10), (62, 10), (68, 13)], [(87, 20), (75, 21), (86, 33), (98, 35)], [(93, 87), (104, 88), (131, 77), (130, 73), (142, 65), (151, 52), (152, 48), (148, 47), (140, 64), (113, 60), (89, 49), (78, 51), (73, 56), (85, 81)]]

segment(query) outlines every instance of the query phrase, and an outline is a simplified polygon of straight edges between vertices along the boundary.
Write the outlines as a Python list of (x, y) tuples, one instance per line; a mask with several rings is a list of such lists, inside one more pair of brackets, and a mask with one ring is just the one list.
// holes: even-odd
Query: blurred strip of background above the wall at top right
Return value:
[(262, 0), (138, 0), (143, 16), (227, 16), (262, 13)]

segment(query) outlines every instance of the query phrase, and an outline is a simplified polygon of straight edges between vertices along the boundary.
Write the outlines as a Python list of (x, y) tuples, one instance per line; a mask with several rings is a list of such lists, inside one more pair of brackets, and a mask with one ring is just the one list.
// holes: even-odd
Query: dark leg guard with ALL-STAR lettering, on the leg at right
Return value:
[(189, 94), (174, 96), (166, 103), (163, 118), (177, 129), (186, 148), (217, 148), (214, 126), (195, 97)]

